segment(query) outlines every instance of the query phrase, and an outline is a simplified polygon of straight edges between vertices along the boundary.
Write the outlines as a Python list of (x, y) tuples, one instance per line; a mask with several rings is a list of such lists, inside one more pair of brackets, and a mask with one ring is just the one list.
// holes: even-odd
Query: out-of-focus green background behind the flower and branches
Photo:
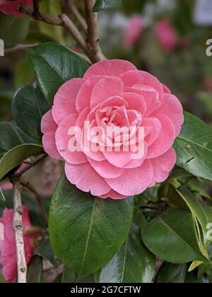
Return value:
[[(126, 59), (151, 72), (177, 95), (185, 110), (212, 124), (212, 57), (206, 55), (206, 40), (212, 38), (212, 21), (206, 24), (204, 19), (195, 20), (197, 1), (122, 0), (121, 9), (99, 13), (100, 44), (106, 57)], [(76, 4), (83, 13), (83, 1)], [(52, 15), (67, 9), (61, 0), (42, 0), (40, 6), (41, 11)], [(126, 45), (124, 34), (135, 15), (143, 19), (144, 28), (134, 45)], [(177, 45), (171, 50), (164, 50), (155, 35), (155, 26), (164, 19), (170, 22), (177, 36)], [(4, 121), (11, 120), (11, 99), (17, 88), (33, 81), (26, 52), (19, 45), (54, 40), (78, 49), (62, 28), (28, 17), (15, 19), (0, 14), (0, 38), (6, 47), (5, 56), (0, 57), (0, 120)]]

